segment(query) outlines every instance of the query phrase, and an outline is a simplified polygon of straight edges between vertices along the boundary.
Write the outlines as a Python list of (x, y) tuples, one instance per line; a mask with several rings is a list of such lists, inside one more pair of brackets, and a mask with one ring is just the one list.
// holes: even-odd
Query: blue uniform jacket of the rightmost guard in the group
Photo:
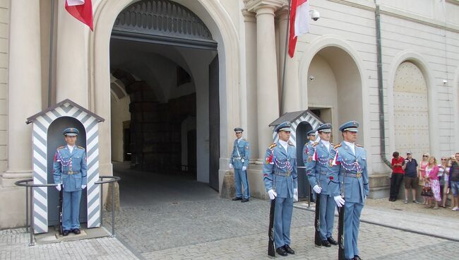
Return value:
[[(344, 141), (330, 152), (329, 163), (333, 175), (339, 174), (339, 182), (334, 182), (332, 196), (344, 191), (345, 201), (364, 203), (369, 194), (368, 171), (366, 168), (366, 151), (362, 146), (355, 145), (355, 155)], [(361, 175), (352, 177), (349, 175)], [(348, 176), (346, 176), (348, 175)], [(343, 185), (344, 184), (344, 189)]]

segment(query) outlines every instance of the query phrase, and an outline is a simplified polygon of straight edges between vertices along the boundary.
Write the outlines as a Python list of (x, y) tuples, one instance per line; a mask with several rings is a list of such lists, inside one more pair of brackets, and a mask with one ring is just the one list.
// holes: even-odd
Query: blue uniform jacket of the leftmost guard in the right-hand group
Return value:
[(279, 198), (292, 198), (297, 189), (297, 150), (289, 142), (287, 152), (280, 143), (273, 143), (266, 150), (263, 163), (263, 181), (266, 191), (273, 189)]

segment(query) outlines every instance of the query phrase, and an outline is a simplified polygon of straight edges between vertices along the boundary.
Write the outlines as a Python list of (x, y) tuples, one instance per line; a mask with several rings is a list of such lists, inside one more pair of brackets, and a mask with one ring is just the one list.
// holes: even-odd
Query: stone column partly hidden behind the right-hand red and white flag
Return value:
[[(279, 18), (279, 78), (280, 78), (280, 90), (283, 92), (280, 98), (280, 114), (286, 112), (294, 112), (301, 110), (301, 101), (299, 95), (299, 81), (298, 81), (298, 61), (297, 57), (290, 58), (286, 54), (285, 49), (285, 37), (288, 35), (287, 23), (289, 22), (288, 7), (281, 8), (276, 16)], [(289, 29), (290, 30), (290, 29)], [(285, 75), (282, 75), (284, 71), (284, 60), (285, 60)], [(284, 89), (282, 90), (283, 76), (285, 76)], [(306, 75), (305, 75), (306, 77)], [(282, 94), (282, 93), (281, 93)], [(282, 100), (283, 99), (283, 100)]]

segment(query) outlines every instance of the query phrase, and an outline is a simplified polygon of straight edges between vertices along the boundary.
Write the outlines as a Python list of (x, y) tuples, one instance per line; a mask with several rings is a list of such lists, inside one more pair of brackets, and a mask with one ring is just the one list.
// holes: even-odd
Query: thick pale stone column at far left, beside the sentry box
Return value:
[(8, 170), (1, 187), (32, 176), (32, 125), (25, 119), (42, 110), (40, 3), (14, 0), (10, 5)]

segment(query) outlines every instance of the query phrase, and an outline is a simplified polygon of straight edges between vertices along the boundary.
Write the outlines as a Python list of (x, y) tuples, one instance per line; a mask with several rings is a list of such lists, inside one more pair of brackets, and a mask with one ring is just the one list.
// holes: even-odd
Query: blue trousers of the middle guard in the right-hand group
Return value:
[(321, 233), (321, 240), (327, 240), (328, 237), (331, 237), (333, 232), (333, 222), (335, 221), (335, 208), (336, 203), (330, 195), (320, 194), (321, 195), (321, 208), (319, 219), (321, 223), (319, 225), (319, 231)]

